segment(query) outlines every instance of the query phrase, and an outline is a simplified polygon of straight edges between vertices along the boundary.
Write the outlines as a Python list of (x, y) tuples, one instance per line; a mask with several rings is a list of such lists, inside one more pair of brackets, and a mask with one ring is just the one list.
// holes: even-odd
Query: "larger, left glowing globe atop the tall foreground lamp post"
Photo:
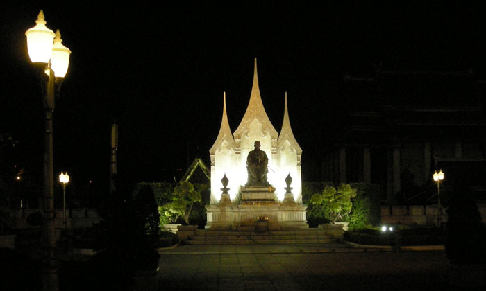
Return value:
[(44, 12), (40, 10), (37, 15), (37, 24), (26, 31), (28, 56), (31, 62), (42, 62), (47, 64), (52, 54), (53, 38), (56, 34), (46, 27)]

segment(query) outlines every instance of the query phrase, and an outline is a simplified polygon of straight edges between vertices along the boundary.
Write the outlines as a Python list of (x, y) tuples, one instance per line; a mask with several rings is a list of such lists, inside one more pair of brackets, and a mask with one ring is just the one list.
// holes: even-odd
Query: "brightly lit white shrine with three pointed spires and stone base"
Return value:
[[(268, 159), (269, 185), (248, 185), (246, 158), (255, 141)], [(246, 112), (233, 134), (226, 114), (226, 94), (223, 116), (215, 143), (210, 149), (211, 203), (206, 206), (211, 229), (251, 229), (264, 220), (268, 229), (307, 228), (302, 204), (301, 155), (287, 108), (280, 134), (271, 124), (258, 86), (255, 59), (253, 87)]]

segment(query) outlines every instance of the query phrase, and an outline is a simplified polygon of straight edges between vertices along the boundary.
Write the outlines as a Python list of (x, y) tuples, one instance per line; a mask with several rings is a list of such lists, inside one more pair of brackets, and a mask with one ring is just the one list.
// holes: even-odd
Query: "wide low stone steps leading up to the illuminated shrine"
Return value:
[(278, 244), (328, 244), (340, 240), (326, 234), (324, 229), (294, 229), (279, 231), (219, 231), (196, 229), (194, 235), (184, 240), (188, 245), (278, 245)]

